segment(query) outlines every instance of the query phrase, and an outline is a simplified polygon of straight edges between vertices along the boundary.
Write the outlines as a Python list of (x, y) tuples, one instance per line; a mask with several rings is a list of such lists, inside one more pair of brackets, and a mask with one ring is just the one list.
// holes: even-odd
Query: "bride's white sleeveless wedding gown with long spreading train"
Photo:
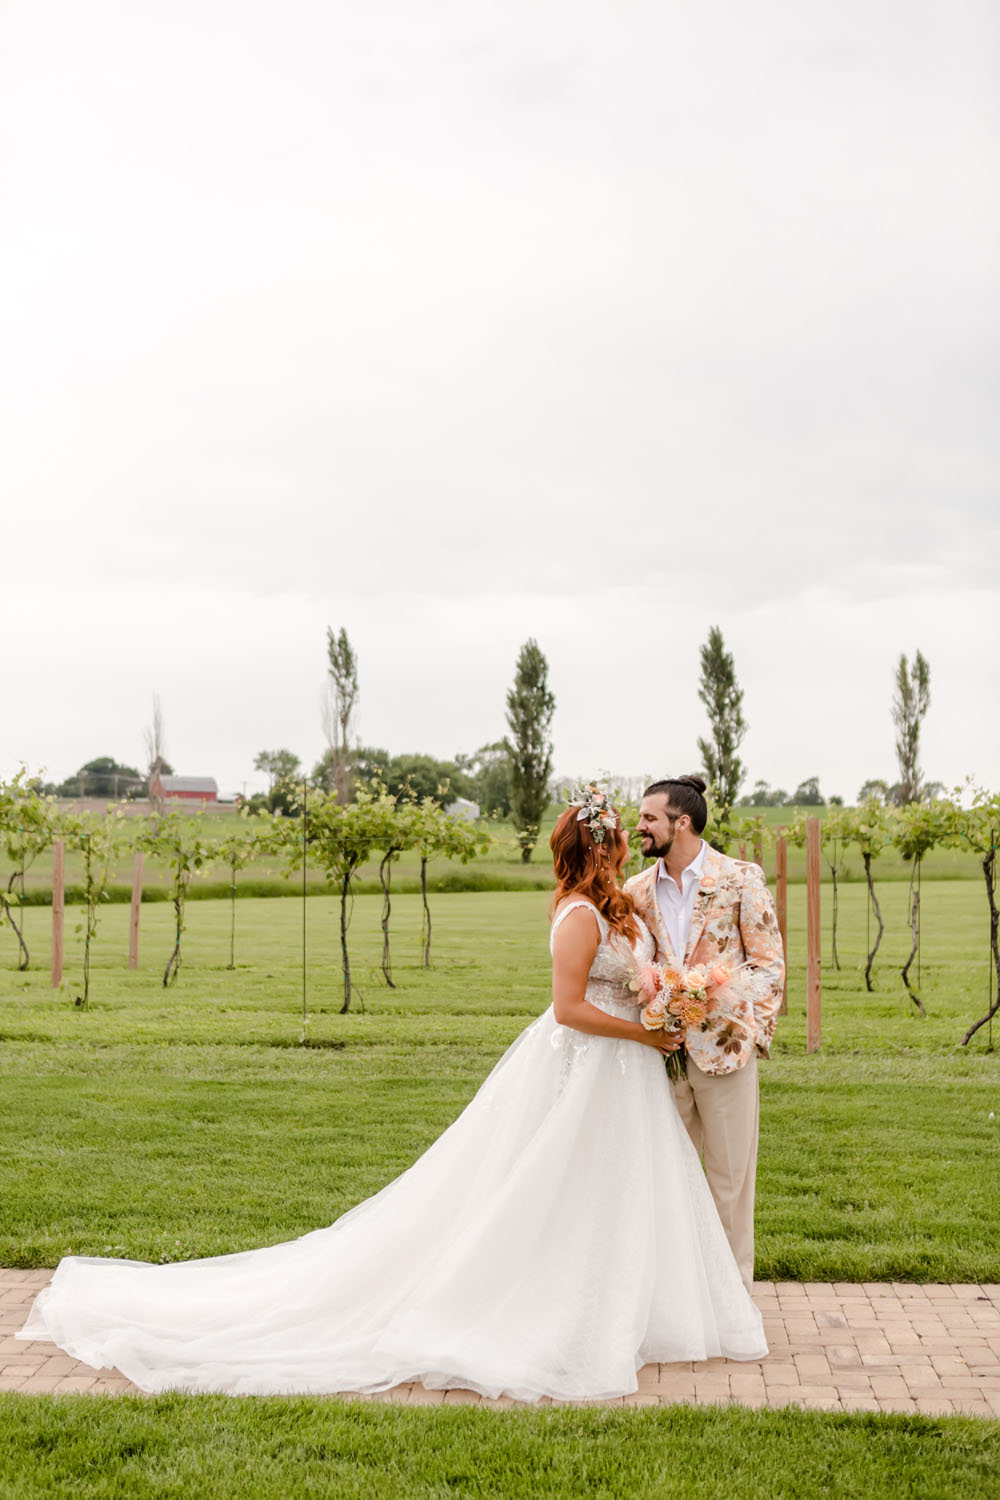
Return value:
[[(628, 974), (652, 938), (633, 952), (589, 909), (586, 998), (634, 1020)], [(18, 1336), (144, 1390), (420, 1380), (523, 1401), (624, 1395), (651, 1360), (768, 1352), (663, 1058), (552, 1008), (435, 1144), (336, 1224), (165, 1266), (70, 1256)]]

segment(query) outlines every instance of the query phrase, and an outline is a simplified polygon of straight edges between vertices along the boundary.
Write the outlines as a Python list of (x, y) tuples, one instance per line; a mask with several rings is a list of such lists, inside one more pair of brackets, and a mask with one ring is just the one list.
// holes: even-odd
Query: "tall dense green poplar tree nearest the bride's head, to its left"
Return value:
[(552, 741), (549, 729), (556, 708), (549, 690), (549, 663), (537, 640), (526, 640), (517, 657), (514, 686), (507, 693), (510, 736), (510, 806), (525, 864), (538, 842), (541, 818), (549, 806)]

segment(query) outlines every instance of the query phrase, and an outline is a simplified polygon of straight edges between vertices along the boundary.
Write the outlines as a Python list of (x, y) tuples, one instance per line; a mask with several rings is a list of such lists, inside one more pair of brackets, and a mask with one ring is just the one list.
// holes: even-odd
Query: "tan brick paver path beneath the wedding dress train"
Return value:
[[(0, 1269), (0, 1390), (135, 1390), (112, 1370), (91, 1370), (52, 1344), (22, 1344), (12, 1336), (49, 1276), (51, 1270)], [(646, 1365), (639, 1390), (624, 1404), (736, 1401), (826, 1412), (1000, 1416), (1000, 1286), (760, 1281), (754, 1296), (771, 1347), (768, 1359)], [(471, 1390), (397, 1386), (381, 1400), (415, 1406), (481, 1398)]]

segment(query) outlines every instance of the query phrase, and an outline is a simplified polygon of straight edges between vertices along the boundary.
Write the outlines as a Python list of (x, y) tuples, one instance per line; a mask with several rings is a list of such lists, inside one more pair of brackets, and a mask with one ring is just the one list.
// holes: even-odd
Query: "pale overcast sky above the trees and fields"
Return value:
[(358, 730), (1000, 784), (993, 0), (0, 3), (0, 772)]

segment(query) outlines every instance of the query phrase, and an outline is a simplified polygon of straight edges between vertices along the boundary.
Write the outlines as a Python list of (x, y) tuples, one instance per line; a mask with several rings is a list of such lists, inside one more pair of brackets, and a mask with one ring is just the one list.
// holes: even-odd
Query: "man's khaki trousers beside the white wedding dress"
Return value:
[(705, 1161), (718, 1216), (750, 1292), (754, 1280), (754, 1185), (760, 1092), (757, 1058), (736, 1072), (708, 1074), (688, 1059), (687, 1082), (673, 1084), (681, 1119)]

